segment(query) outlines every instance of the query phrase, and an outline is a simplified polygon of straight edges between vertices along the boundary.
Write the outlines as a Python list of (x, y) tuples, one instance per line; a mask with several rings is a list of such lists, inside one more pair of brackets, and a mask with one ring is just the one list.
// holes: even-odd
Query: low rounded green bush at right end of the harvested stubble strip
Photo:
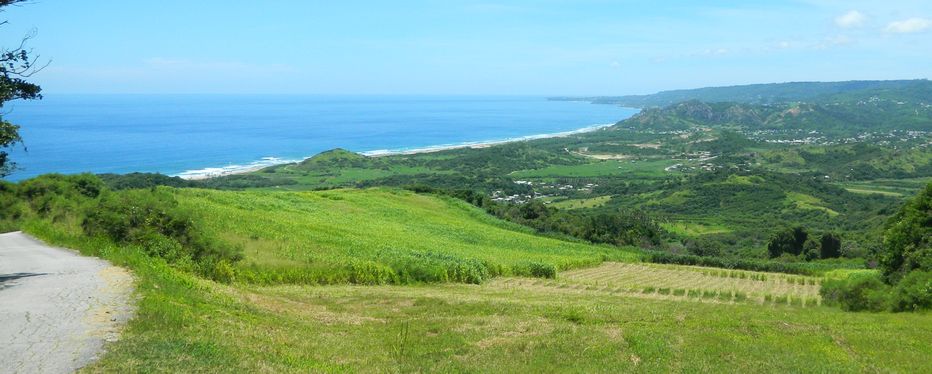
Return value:
[(874, 311), (889, 309), (890, 286), (874, 274), (854, 274), (845, 279), (829, 279), (819, 290), (823, 303), (839, 306), (846, 311)]

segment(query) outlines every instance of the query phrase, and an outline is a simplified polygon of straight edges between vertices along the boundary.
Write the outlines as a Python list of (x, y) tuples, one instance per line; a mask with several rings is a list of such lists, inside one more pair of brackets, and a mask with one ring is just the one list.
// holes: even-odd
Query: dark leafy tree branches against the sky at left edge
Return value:
[[(0, 11), (23, 1), (25, 0), (0, 0)], [(6, 22), (0, 23), (4, 24)], [(11, 100), (42, 98), (42, 89), (26, 81), (42, 68), (36, 65), (37, 56), (26, 47), (33, 35), (26, 35), (16, 48), (0, 50), (0, 109)], [(0, 177), (9, 175), (15, 167), (5, 149), (21, 143), (22, 140), (19, 136), (19, 126), (0, 117)]]

